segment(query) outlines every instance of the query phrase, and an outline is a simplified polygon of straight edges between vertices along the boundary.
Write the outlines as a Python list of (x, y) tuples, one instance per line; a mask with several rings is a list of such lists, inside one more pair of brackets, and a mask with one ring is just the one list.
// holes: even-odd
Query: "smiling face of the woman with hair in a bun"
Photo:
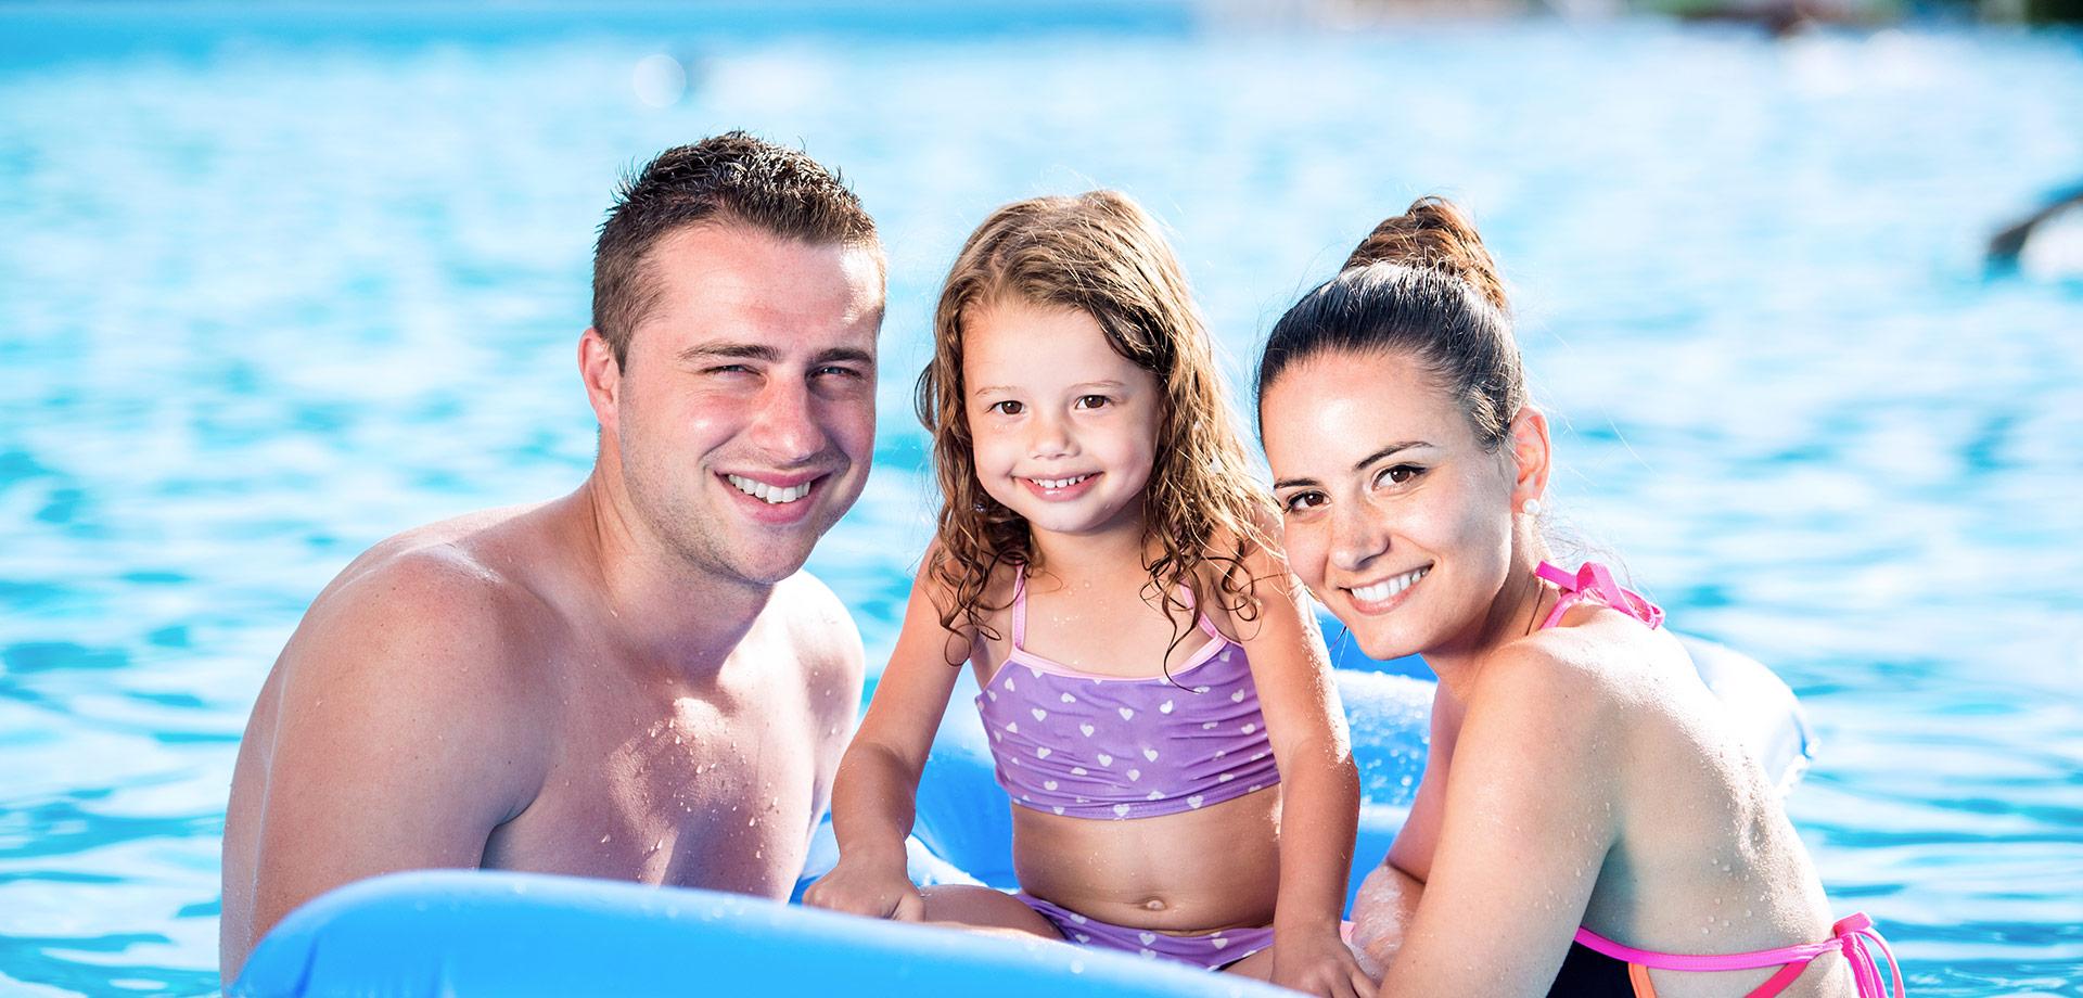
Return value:
[[(1514, 510), (1546, 475), (1531, 406), (1508, 446), (1485, 452), (1410, 356), (1327, 352), (1279, 375), (1260, 423), (1287, 560), (1369, 656), (1481, 635), (1512, 565)], [(1519, 475), (1527, 433), (1539, 471)]]

